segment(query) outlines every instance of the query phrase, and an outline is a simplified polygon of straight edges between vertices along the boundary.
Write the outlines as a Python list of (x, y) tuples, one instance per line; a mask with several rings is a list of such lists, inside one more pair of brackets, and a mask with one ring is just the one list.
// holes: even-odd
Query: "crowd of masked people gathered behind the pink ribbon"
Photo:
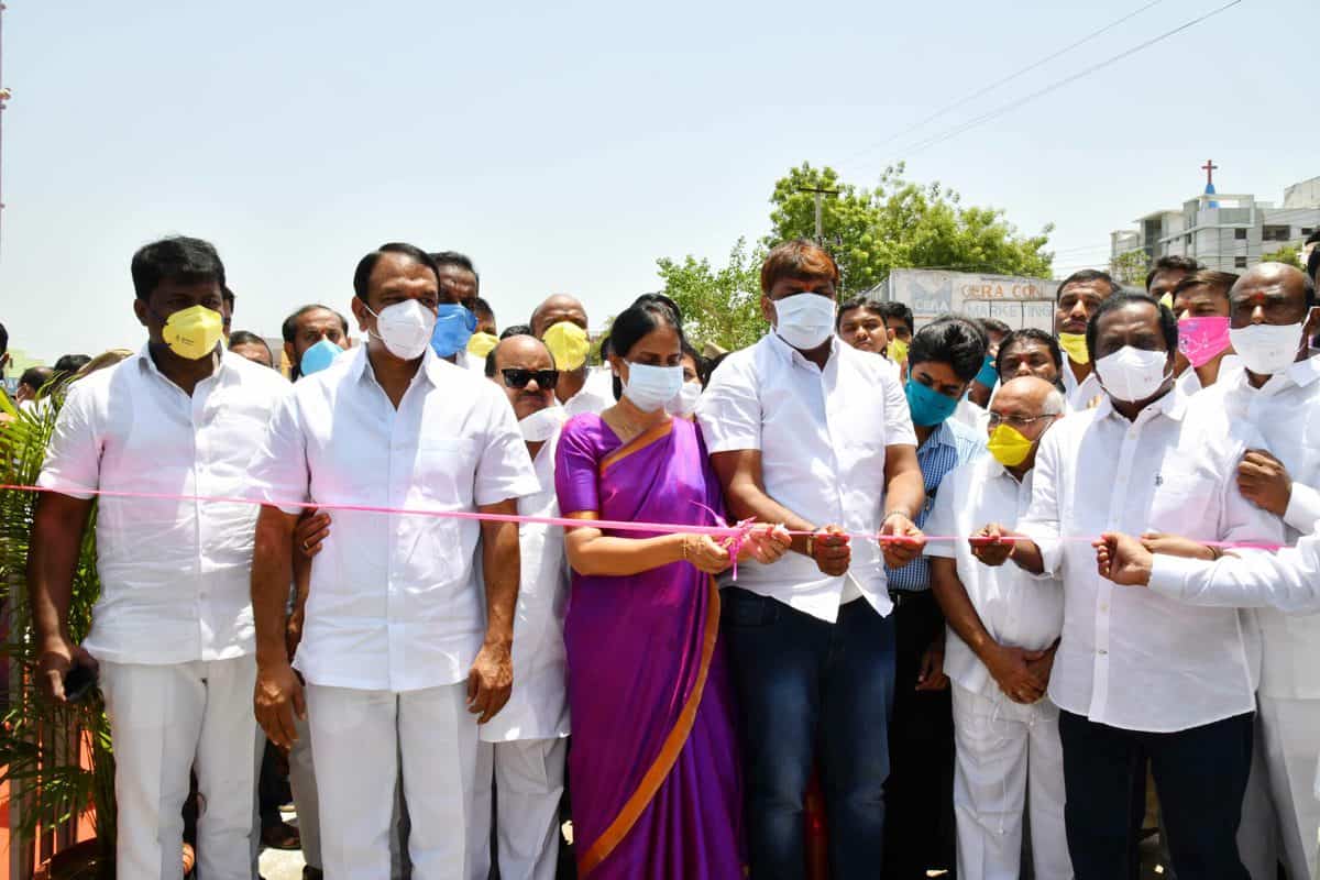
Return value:
[(305, 877), (1114, 880), (1152, 778), (1170, 876), (1304, 880), (1317, 273), (916, 326), (796, 240), (708, 360), (663, 294), (500, 330), (471, 260), (393, 243), (356, 344), (317, 303), (276, 352), (211, 244), (154, 241), (141, 348), (20, 377), (58, 401), (40, 685), (96, 677), (132, 880), (182, 875), (194, 789), (198, 876), (251, 880), (272, 755)]

